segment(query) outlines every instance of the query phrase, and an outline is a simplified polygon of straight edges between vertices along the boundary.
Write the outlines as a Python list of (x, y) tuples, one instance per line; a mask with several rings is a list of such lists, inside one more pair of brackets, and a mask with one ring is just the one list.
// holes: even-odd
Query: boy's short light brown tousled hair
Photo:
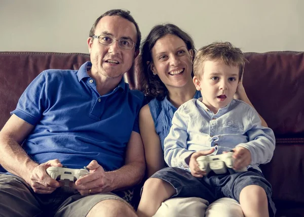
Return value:
[(241, 49), (234, 47), (230, 42), (213, 42), (196, 53), (193, 62), (194, 76), (201, 78), (204, 72), (204, 62), (207, 60), (219, 60), (229, 66), (238, 66), (239, 81), (247, 61)]

